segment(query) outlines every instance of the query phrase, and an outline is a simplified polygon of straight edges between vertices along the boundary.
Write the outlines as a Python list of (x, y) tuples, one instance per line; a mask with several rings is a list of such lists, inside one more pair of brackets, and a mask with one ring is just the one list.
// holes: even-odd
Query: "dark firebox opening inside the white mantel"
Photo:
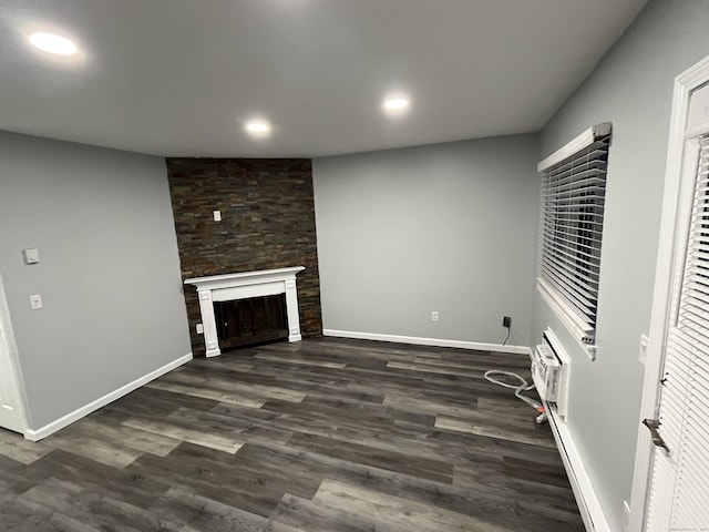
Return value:
[(222, 350), (288, 339), (285, 294), (215, 301), (214, 314)]

